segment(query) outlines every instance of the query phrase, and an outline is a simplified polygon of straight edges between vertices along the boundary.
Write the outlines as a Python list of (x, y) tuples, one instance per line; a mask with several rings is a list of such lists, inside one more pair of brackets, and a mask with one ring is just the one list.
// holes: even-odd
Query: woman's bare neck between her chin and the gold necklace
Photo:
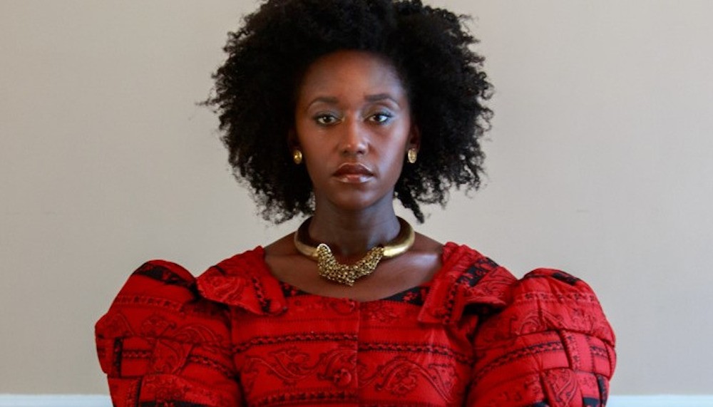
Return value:
[(344, 259), (363, 256), (369, 249), (394, 239), (401, 229), (393, 205), (354, 212), (320, 209), (324, 208), (314, 211), (309, 237), (329, 244), (332, 252)]

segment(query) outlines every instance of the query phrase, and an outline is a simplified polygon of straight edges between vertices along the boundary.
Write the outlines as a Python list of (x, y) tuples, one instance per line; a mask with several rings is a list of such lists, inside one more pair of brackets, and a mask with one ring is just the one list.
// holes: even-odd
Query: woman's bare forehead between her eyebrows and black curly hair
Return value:
[(396, 68), (386, 58), (365, 51), (337, 51), (314, 61), (304, 73), (298, 98), (314, 94), (391, 93), (405, 97)]

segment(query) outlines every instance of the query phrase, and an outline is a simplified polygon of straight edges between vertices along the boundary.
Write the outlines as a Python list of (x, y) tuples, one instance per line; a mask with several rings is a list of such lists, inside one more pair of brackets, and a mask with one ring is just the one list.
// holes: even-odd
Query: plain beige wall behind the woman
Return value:
[[(476, 16), (496, 118), (488, 185), (421, 231), (590, 282), (615, 393), (713, 392), (713, 3), (433, 4)], [(0, 0), (0, 393), (106, 392), (92, 325), (134, 267), (294, 228), (255, 216), (194, 104), (253, 6)]]

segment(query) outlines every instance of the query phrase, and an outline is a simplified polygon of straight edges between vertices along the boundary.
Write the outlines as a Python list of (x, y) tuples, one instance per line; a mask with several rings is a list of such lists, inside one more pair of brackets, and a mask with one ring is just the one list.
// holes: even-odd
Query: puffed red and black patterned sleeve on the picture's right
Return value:
[(536, 269), (481, 322), (467, 406), (605, 406), (615, 336), (585, 282)]

